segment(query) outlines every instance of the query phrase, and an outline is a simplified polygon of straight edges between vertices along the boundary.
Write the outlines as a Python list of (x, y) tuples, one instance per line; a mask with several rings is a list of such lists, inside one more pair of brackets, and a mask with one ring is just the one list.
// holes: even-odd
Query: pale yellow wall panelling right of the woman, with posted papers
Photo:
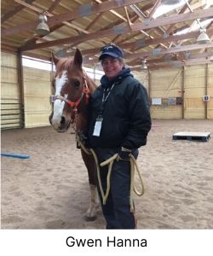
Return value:
[[(213, 119), (213, 64), (187, 66), (182, 72), (181, 68), (151, 72), (151, 99), (162, 98), (164, 101), (169, 97), (180, 97), (184, 86), (184, 108), (181, 105), (151, 105), (152, 118), (181, 119), (183, 111), (185, 119)], [(210, 96), (209, 102), (204, 102), (204, 95)]]

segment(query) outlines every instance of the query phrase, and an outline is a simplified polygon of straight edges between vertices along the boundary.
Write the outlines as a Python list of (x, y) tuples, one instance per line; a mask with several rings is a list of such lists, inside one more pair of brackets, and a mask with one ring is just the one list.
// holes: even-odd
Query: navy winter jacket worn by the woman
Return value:
[[(112, 87), (112, 84), (114, 86)], [(100, 137), (93, 136), (104, 90), (112, 87), (102, 112)], [(151, 117), (146, 88), (124, 68), (113, 81), (106, 76), (91, 96), (89, 146), (91, 148), (140, 148), (147, 143)]]

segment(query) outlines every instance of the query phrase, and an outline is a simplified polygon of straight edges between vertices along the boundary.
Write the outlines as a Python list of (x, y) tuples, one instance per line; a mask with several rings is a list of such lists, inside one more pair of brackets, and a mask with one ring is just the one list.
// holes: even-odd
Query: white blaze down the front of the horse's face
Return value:
[[(57, 76), (55, 78), (55, 96), (60, 96), (61, 90), (63, 86), (66, 84), (68, 78), (66, 71), (63, 71), (61, 77)], [(54, 125), (55, 129), (60, 127), (61, 117), (63, 115), (65, 102), (60, 99), (56, 99), (54, 102), (54, 113), (52, 118), (52, 125)]]

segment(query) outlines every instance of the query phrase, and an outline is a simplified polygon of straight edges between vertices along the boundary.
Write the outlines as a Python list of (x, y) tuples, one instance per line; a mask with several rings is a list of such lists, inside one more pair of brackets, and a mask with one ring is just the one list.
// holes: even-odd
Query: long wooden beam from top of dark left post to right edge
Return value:
[[(181, 14), (181, 15), (172, 15), (170, 17), (162, 17), (162, 18), (158, 18), (156, 20), (150, 20), (149, 24), (146, 24), (146, 23), (133, 24), (131, 26), (131, 30), (132, 30), (132, 32), (136, 32), (136, 31), (143, 30), (143, 29), (169, 25), (171, 23), (177, 23), (177, 22), (182, 22), (182, 21), (187, 21), (187, 20), (194, 20), (194, 19), (201, 18), (201, 17), (203, 17), (203, 18), (210, 17), (210, 16), (212, 16), (212, 13), (213, 13), (213, 8), (210, 8), (210, 9), (201, 9), (197, 12), (193, 12), (193, 13), (189, 13), (189, 14)], [(91, 32), (87, 35), (81, 35), (81, 36), (72, 37), (72, 38), (61, 38), (61, 39), (49, 41), (46, 43), (35, 44), (34, 47), (32, 46), (32, 48), (22, 48), (21, 50), (41, 49), (41, 48), (51, 47), (51, 46), (55, 46), (55, 45), (70, 44), (70, 43), (80, 44), (80, 43), (88, 41), (88, 40), (104, 38), (104, 37), (110, 36), (115, 33), (123, 34), (123, 33), (127, 33), (127, 32), (131, 32), (130, 28), (128, 26), (114, 26), (113, 28), (98, 31), (98, 32)]]

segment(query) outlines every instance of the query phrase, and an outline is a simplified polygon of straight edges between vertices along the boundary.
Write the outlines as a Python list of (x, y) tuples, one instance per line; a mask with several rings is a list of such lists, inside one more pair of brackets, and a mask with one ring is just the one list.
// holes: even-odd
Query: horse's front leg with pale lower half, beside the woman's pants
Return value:
[(92, 154), (86, 154), (83, 151), (83, 149), (81, 149), (81, 154), (82, 154), (85, 166), (87, 167), (87, 170), (88, 170), (89, 189), (90, 189), (90, 195), (91, 195), (89, 208), (86, 212), (85, 220), (94, 221), (95, 218), (97, 218), (97, 212), (99, 209), (99, 198), (98, 198), (98, 192), (96, 187), (97, 172), (96, 172), (95, 160)]

